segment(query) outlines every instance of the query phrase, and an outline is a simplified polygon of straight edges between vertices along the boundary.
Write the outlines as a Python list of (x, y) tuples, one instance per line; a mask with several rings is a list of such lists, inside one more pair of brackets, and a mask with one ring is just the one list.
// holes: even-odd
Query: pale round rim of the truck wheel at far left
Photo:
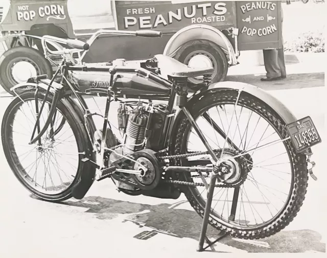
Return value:
[(12, 85), (25, 83), (31, 77), (41, 74), (41, 69), (32, 59), (14, 58), (8, 64), (7, 77)]

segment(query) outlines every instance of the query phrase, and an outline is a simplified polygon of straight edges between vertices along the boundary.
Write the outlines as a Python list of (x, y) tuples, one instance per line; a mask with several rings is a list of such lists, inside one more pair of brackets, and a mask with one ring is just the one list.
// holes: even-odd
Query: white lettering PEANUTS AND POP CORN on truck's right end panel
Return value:
[[(258, 35), (259, 37), (267, 36), (277, 31), (276, 24), (269, 24), (272, 21), (277, 20), (277, 17), (273, 16), (271, 12), (276, 10), (276, 3), (272, 2), (252, 2), (246, 3), (240, 6), (242, 14), (245, 16), (242, 17), (242, 21), (247, 23), (248, 25), (244, 25), (241, 29), (241, 34), (245, 33), (246, 35), (252, 37), (253, 35)], [(253, 11), (256, 10), (256, 14), (258, 14), (258, 10), (264, 10), (262, 15), (253, 15)], [(256, 29), (253, 26), (255, 23), (260, 23), (264, 27)], [(251, 27), (252, 25), (252, 27)], [(255, 24), (256, 25), (256, 24)]]

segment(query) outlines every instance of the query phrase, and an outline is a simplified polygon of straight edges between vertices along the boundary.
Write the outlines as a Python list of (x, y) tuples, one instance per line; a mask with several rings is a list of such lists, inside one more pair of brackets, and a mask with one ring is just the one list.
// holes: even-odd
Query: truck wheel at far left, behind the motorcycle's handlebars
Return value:
[[(52, 67), (34, 48), (26, 46), (10, 48), (0, 57), (0, 83), (11, 95), (14, 93), (10, 88), (41, 74), (47, 74), (48, 78), (51, 78)], [(17, 93), (21, 91), (23, 90), (16, 90)]]

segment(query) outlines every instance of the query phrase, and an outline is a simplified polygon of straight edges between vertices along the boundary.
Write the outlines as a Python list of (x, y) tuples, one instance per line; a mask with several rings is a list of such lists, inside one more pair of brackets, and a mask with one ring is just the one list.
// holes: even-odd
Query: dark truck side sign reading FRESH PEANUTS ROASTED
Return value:
[(116, 2), (118, 29), (174, 31), (191, 24), (232, 25), (232, 2)]

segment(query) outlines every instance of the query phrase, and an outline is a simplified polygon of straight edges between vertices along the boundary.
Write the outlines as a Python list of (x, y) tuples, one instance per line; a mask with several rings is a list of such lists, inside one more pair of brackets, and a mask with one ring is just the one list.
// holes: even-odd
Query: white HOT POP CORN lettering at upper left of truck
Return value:
[(16, 17), (18, 21), (31, 21), (35, 17), (63, 20), (66, 18), (65, 10), (62, 5), (44, 5), (44, 6), (17, 6)]

